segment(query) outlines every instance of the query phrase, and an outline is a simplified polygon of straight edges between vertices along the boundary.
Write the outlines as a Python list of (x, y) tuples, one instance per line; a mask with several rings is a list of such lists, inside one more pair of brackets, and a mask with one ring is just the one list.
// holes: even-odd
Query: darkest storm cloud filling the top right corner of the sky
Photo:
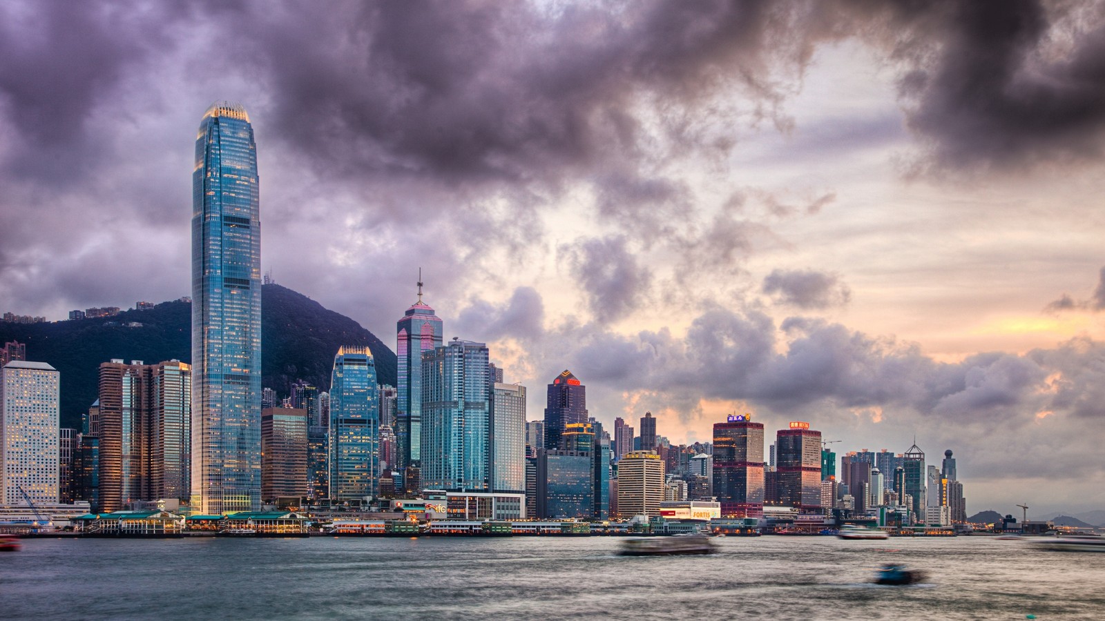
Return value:
[(907, 124), (944, 170), (1096, 158), (1105, 138), (1105, 15), (1039, 0), (846, 2), (902, 62)]

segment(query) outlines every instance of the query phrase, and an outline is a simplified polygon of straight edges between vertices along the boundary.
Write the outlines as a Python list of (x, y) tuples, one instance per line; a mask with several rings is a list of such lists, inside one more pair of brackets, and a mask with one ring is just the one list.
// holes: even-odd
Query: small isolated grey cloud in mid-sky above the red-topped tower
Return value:
[(561, 245), (557, 252), (598, 320), (624, 318), (648, 298), (652, 271), (630, 252), (624, 235), (582, 239)]

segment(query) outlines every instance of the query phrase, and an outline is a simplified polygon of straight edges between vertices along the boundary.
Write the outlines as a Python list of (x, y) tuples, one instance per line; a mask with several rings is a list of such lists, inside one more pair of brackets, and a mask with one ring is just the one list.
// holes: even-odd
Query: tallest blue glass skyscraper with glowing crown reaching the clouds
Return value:
[(192, 173), (192, 505), (261, 508), (261, 220), (250, 116), (213, 105)]

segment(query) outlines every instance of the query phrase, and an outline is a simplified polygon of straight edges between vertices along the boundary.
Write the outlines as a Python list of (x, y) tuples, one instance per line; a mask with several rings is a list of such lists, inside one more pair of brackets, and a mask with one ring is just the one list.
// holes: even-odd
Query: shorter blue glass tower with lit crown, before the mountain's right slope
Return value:
[(330, 376), (330, 502), (379, 491), (380, 403), (368, 347), (341, 347)]

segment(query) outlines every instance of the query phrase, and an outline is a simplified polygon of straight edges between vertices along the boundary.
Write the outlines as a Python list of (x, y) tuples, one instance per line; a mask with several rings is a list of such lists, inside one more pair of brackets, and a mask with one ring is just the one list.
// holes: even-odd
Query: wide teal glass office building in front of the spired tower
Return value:
[(425, 490), (488, 490), (487, 346), (454, 338), (422, 355), (421, 475)]

